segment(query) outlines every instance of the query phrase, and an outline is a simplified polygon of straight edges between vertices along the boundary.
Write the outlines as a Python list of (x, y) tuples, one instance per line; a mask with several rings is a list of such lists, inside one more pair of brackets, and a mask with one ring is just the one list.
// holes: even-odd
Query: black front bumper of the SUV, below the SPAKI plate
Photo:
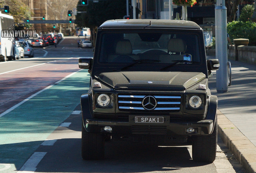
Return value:
[[(118, 135), (209, 135), (213, 131), (213, 120), (198, 122), (169, 123), (169, 125), (131, 125), (129, 122), (102, 121), (86, 119), (83, 122), (86, 131), (90, 133), (111, 133)], [(112, 131), (104, 131), (109, 126)], [(188, 133), (186, 129), (194, 128), (194, 133)]]

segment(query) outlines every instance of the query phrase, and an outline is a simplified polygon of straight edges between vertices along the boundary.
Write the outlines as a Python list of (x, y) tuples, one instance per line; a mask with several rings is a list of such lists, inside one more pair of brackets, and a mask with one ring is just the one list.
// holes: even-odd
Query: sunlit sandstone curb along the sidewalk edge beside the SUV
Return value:
[(246, 169), (247, 173), (256, 173), (256, 147), (244, 136), (242, 132), (227, 119), (227, 117), (217, 111), (218, 115), (218, 134), (222, 141), (227, 145), (236, 159)]

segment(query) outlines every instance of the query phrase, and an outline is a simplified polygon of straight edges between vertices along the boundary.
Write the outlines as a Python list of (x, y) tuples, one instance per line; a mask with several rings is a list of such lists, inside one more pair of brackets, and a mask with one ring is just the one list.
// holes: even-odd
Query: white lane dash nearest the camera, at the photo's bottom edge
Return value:
[(43, 159), (46, 153), (47, 152), (35, 152), (33, 155), (31, 155), (31, 157), (26, 161), (26, 163), (17, 173), (35, 172), (38, 163)]

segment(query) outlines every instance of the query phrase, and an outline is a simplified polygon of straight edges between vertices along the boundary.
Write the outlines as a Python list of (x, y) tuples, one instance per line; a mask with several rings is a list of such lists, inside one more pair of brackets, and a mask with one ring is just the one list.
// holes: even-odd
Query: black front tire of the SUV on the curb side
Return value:
[(193, 138), (192, 157), (197, 162), (213, 163), (216, 157), (217, 150), (217, 118), (213, 133), (209, 136), (197, 136)]

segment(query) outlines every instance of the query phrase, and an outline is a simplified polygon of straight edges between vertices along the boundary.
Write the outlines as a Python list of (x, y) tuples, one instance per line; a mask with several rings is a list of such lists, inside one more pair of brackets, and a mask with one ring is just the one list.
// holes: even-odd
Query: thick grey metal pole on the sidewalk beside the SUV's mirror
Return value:
[(217, 91), (227, 92), (227, 8), (225, 0), (217, 0), (215, 7), (216, 58), (219, 59), (219, 70), (216, 72)]

